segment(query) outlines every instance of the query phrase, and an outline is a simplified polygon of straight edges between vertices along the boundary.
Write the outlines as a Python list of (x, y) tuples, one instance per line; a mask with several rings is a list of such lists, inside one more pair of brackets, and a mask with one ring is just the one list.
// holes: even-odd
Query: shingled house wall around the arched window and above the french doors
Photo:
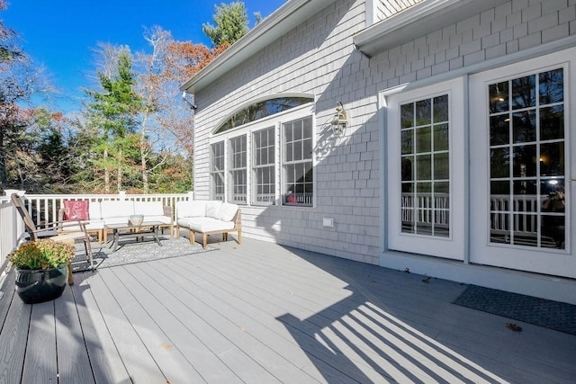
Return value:
[[(576, 0), (512, 0), (373, 58), (353, 46), (353, 34), (364, 28), (364, 1), (336, 1), (195, 95), (196, 199), (210, 197), (210, 131), (222, 119), (266, 94), (315, 94), (315, 206), (243, 207), (245, 234), (379, 263), (384, 212), (378, 92), (574, 35)], [(338, 101), (351, 124), (344, 138), (334, 140), (323, 123)], [(334, 218), (334, 228), (322, 227), (324, 217)]]

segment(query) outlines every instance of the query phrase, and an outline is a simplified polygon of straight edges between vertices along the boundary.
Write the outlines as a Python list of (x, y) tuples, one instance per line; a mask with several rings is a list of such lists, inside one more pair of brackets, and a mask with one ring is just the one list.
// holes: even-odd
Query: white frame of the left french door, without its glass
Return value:
[[(459, 77), (407, 92), (401, 88), (382, 94), (386, 106), (386, 249), (462, 260), (466, 254), (465, 97), (464, 78)], [(410, 103), (441, 94), (449, 98), (449, 180), (450, 235), (431, 237), (401, 232), (401, 103)]]

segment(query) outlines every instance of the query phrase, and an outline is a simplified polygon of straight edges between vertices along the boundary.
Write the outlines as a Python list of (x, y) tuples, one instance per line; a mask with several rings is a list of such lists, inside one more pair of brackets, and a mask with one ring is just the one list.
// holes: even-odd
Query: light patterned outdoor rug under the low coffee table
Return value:
[[(126, 241), (121, 242), (116, 252), (112, 252), (110, 244), (92, 243), (92, 258), (97, 269), (109, 268), (117, 265), (130, 263), (148, 262), (157, 259), (167, 259), (184, 255), (201, 254), (213, 251), (216, 248), (207, 246), (203, 249), (198, 243), (190, 244), (190, 240), (185, 237), (168, 238), (160, 237), (158, 246), (154, 241)], [(86, 261), (84, 246), (76, 245), (81, 251), (76, 252), (76, 258), (72, 261), (72, 272), (82, 272), (89, 270), (90, 263)]]

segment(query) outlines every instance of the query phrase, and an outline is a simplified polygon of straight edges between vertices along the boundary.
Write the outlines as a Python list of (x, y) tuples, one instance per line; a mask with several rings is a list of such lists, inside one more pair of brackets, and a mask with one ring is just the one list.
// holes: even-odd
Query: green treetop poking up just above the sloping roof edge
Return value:
[(230, 46), (248, 31), (248, 16), (242, 2), (214, 5), (216, 14), (212, 16), (216, 26), (202, 24), (202, 31), (210, 38), (213, 47)]

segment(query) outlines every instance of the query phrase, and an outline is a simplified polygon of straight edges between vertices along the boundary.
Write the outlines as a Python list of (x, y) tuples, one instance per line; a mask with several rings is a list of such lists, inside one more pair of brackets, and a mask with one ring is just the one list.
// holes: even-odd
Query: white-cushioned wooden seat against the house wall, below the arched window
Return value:
[(178, 201), (175, 207), (176, 237), (180, 229), (190, 231), (190, 243), (195, 243), (196, 233), (202, 235), (202, 247), (206, 249), (208, 236), (222, 235), (228, 240), (229, 232), (237, 233), (238, 244), (242, 242), (241, 212), (237, 204), (222, 201)]

